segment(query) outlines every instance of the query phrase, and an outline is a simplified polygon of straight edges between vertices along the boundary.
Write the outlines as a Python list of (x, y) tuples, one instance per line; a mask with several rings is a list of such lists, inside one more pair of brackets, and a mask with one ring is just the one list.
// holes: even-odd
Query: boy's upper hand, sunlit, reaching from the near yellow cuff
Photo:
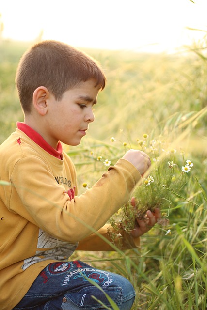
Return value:
[(149, 156), (143, 151), (131, 149), (127, 151), (122, 158), (132, 163), (140, 172), (141, 176), (143, 176), (144, 172), (146, 172), (151, 166)]

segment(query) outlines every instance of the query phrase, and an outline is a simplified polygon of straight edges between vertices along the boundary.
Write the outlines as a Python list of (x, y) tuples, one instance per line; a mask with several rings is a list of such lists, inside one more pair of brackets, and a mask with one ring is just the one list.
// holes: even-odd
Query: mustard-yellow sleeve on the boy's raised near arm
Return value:
[(12, 212), (60, 240), (75, 243), (99, 230), (128, 202), (141, 176), (130, 162), (120, 159), (91, 189), (70, 200), (47, 163), (34, 156), (16, 163), (11, 182)]

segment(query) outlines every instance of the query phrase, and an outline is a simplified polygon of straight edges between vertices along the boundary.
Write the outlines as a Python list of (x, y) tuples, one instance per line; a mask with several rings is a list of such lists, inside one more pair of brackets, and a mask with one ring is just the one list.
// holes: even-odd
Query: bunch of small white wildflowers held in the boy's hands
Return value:
[[(170, 210), (176, 203), (176, 195), (186, 185), (193, 163), (185, 159), (183, 151), (170, 147), (165, 140), (149, 140), (149, 135), (144, 134), (143, 140), (137, 139), (138, 147), (147, 153), (152, 161), (149, 175), (143, 179), (143, 184), (137, 186), (133, 193), (135, 206), (131, 202), (125, 204), (110, 220), (113, 231), (125, 230), (130, 233), (134, 229), (136, 218), (144, 219), (147, 210), (154, 212), (155, 208), (162, 211), (159, 224), (169, 225)], [(116, 233), (117, 233), (116, 232)], [(116, 233), (111, 232), (111, 238)], [(170, 235), (166, 228), (166, 235)]]

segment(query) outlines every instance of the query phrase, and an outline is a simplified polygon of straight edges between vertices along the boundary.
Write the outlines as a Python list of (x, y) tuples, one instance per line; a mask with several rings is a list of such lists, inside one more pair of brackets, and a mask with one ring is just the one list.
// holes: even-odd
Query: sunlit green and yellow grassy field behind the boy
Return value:
[[(19, 58), (29, 46), (0, 44), (0, 143), (15, 130), (17, 120), (23, 121), (14, 79)], [(149, 152), (153, 161), (155, 140), (170, 161), (176, 162), (176, 153), (180, 167), (188, 159), (194, 164), (189, 173), (181, 168), (171, 173), (171, 184), (176, 179), (179, 188), (170, 187), (170, 195), (162, 193), (168, 207), (160, 204), (169, 222), (164, 227), (156, 224), (143, 236), (141, 252), (74, 255), (130, 279), (137, 291), (133, 310), (207, 309), (206, 46), (204, 40), (176, 55), (85, 50), (101, 63), (107, 86), (99, 94), (96, 121), (87, 137), (78, 147), (65, 146), (77, 167), (80, 193), (86, 190), (83, 183), (91, 187), (106, 171), (105, 159), (113, 164), (131, 147)], [(155, 183), (157, 171), (160, 182), (166, 175), (160, 167), (153, 165)], [(153, 188), (152, 197), (159, 187)], [(139, 190), (141, 201), (143, 193)]]

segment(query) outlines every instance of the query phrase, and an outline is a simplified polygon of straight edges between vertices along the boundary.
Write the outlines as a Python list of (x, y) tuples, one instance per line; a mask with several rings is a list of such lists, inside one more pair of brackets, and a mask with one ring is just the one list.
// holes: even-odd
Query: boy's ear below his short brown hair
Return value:
[(50, 93), (44, 86), (37, 87), (33, 93), (33, 106), (40, 115), (45, 115), (48, 111), (49, 96)]

